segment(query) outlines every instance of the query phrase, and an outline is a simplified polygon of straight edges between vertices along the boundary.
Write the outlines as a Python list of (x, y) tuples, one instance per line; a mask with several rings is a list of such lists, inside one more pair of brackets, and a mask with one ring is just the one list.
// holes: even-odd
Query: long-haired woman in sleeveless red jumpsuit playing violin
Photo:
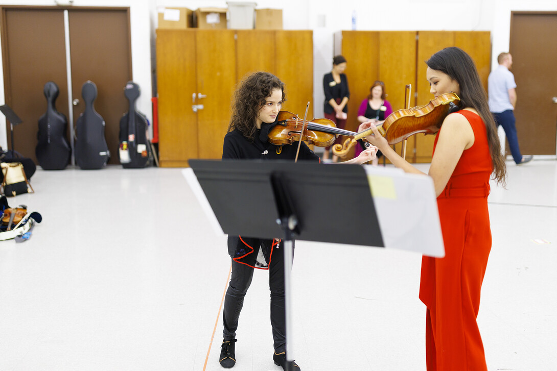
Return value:
[[(505, 183), (505, 161), (476, 66), (459, 48), (445, 48), (426, 62), (430, 91), (454, 92), (460, 111), (437, 134), (428, 175), (433, 178), (445, 246), (444, 258), (422, 259), (419, 298), (426, 304), (428, 371), (487, 371), (476, 322), (491, 250), (487, 210), (490, 176)], [(362, 123), (359, 131), (370, 127)], [(373, 128), (369, 141), (405, 172), (423, 174), (400, 157)]]

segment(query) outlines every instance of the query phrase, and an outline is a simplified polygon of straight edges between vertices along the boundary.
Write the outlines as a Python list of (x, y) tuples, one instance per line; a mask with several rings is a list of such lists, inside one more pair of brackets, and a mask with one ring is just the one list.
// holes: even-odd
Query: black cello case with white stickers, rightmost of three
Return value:
[(128, 81), (124, 95), (130, 102), (128, 112), (120, 118), (120, 146), (118, 157), (125, 169), (138, 169), (147, 166), (152, 158), (151, 146), (147, 137), (147, 118), (135, 109), (139, 98), (139, 85)]

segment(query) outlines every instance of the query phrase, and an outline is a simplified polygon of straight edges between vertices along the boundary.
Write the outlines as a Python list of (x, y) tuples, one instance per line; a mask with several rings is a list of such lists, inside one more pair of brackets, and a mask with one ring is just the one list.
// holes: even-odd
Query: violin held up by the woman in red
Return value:
[[(455, 93), (445, 93), (432, 99), (427, 105), (395, 111), (376, 127), (390, 145), (402, 142), (417, 133), (434, 134), (439, 131), (449, 113), (458, 111), (458, 102), (460, 98)], [(333, 153), (340, 157), (346, 156), (359, 139), (365, 141), (365, 137), (371, 133), (372, 128), (369, 128), (350, 136), (344, 144), (334, 145)]]

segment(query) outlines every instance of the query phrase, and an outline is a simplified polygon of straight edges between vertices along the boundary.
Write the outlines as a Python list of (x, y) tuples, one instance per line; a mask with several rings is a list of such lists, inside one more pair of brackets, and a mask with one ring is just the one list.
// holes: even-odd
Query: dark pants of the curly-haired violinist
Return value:
[[(284, 251), (282, 244), (272, 253), (269, 264), (269, 289), (271, 291), (271, 326), (275, 352), (281, 353), (286, 349), (286, 320), (284, 299)], [(223, 338), (225, 341), (236, 339), (238, 318), (243, 306), (243, 299), (253, 278), (253, 270), (249, 265), (232, 260), (232, 276), (224, 298), (223, 310)]]

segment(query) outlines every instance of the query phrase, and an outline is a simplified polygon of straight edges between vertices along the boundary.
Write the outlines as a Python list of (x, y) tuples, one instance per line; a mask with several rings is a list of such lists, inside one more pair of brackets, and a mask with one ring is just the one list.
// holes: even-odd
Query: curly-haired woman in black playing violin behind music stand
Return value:
[[(262, 159), (294, 160), (297, 144), (277, 146), (267, 141), (267, 134), (276, 125), (278, 112), (285, 101), (284, 83), (267, 72), (255, 72), (240, 83), (234, 93), (232, 117), (224, 136), (223, 160)], [(377, 148), (372, 147), (343, 164), (363, 164), (373, 160)], [(320, 161), (305, 143), (299, 159)], [(243, 299), (250, 287), (253, 269), (269, 271), (271, 290), (271, 326), (275, 354), (273, 360), (286, 369), (284, 253), (277, 239), (228, 236), (228, 254), (232, 258), (232, 276), (226, 291), (223, 310), (223, 343), (219, 362), (224, 368), (236, 364), (234, 343)], [(261, 254), (260, 254), (261, 252)], [(272, 256), (272, 259), (271, 259)], [(258, 259), (259, 258), (259, 259)], [(299, 370), (297, 364), (295, 369)]]

